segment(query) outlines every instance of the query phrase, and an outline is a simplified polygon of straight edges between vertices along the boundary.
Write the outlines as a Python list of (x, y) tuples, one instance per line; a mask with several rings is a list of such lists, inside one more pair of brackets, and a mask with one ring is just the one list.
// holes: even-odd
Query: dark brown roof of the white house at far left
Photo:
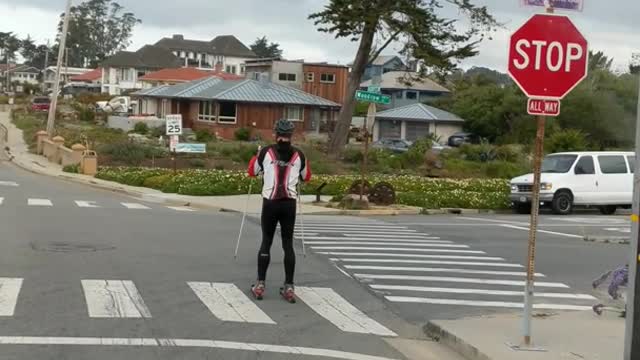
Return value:
[(155, 45), (145, 45), (136, 52), (120, 51), (102, 63), (102, 67), (147, 69), (177, 68), (180, 66), (180, 60), (169, 49)]

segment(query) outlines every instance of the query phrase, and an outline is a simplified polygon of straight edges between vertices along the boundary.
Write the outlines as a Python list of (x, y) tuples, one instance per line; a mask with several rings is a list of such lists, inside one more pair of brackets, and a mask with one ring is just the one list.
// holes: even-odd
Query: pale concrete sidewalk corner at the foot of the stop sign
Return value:
[(546, 351), (514, 351), (519, 345), (521, 315), (495, 315), (432, 321), (428, 335), (469, 360), (612, 360), (622, 359), (624, 319), (605, 313), (562, 312), (533, 319), (535, 347)]

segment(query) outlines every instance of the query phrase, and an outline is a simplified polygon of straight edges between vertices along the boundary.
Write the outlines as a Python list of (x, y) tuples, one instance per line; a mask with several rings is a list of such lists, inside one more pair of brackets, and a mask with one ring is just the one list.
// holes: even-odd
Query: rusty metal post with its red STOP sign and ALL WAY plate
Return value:
[(527, 111), (537, 115), (536, 146), (533, 164), (531, 224), (524, 292), (523, 343), (510, 345), (514, 350), (544, 351), (532, 347), (531, 313), (535, 285), (536, 235), (540, 211), (540, 178), (544, 154), (546, 116), (557, 116), (560, 100), (586, 76), (588, 68), (587, 40), (566, 16), (548, 14), (531, 17), (511, 36), (509, 75), (529, 97)]

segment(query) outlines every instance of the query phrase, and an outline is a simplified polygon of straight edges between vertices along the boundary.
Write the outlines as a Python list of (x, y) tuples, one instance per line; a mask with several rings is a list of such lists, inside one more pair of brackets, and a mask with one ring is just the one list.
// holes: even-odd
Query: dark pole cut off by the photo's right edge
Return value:
[[(640, 74), (638, 75), (640, 79)], [(640, 81), (639, 81), (640, 88)], [(636, 114), (636, 163), (633, 174), (633, 214), (631, 215), (631, 259), (629, 259), (629, 289), (627, 294), (626, 333), (624, 337), (624, 360), (640, 359), (640, 92)]]

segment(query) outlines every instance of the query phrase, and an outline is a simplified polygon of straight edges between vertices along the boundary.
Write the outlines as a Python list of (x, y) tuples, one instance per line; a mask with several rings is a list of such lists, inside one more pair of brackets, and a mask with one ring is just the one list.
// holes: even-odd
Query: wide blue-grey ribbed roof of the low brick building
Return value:
[(178, 85), (158, 86), (134, 93), (141, 97), (187, 98), (251, 103), (340, 107), (339, 104), (304, 91), (271, 82), (224, 80), (208, 77)]

